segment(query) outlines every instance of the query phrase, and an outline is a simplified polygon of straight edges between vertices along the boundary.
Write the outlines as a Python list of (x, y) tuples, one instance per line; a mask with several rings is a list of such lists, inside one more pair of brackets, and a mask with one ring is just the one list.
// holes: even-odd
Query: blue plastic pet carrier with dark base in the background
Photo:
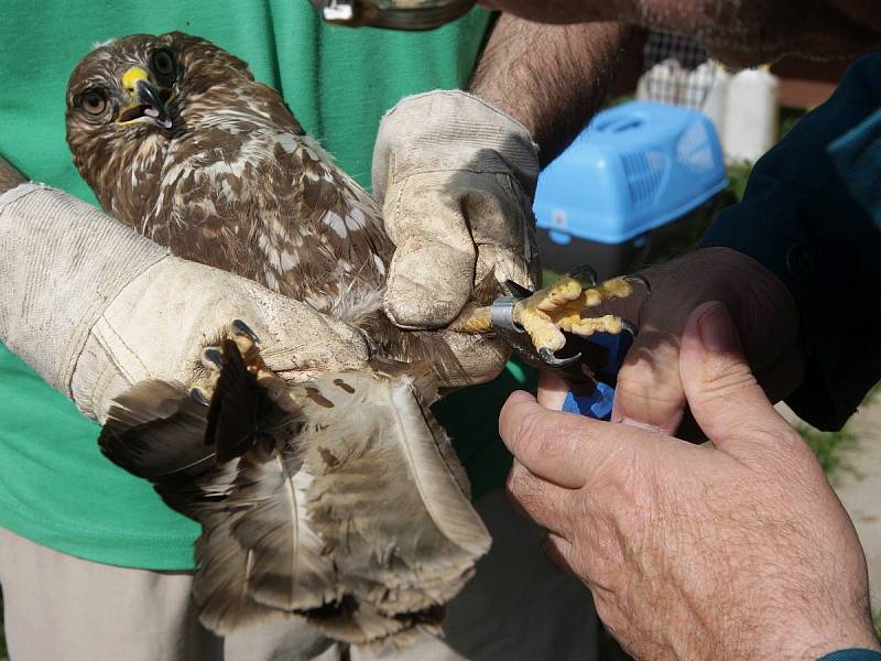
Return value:
[(602, 278), (637, 270), (693, 242), (727, 184), (700, 112), (644, 101), (605, 110), (539, 177), (542, 261)]

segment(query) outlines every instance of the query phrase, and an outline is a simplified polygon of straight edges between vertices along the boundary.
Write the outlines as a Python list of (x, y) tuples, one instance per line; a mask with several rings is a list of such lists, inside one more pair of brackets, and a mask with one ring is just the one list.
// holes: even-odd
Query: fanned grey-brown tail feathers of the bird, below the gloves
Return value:
[(436, 632), (490, 538), (427, 408), (427, 368), (376, 364), (271, 394), (235, 343), (225, 357), (207, 415), (183, 386), (150, 381), (101, 435), (202, 523), (203, 622), (229, 633), (300, 615), (356, 644)]

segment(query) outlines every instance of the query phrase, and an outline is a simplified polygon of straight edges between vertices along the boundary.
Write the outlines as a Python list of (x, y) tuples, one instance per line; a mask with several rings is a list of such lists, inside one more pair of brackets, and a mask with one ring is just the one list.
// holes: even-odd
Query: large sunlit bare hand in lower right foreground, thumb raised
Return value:
[(714, 448), (511, 395), (509, 491), (548, 530), (552, 555), (639, 658), (881, 649), (853, 527), (751, 375), (722, 305), (690, 315), (679, 366)]

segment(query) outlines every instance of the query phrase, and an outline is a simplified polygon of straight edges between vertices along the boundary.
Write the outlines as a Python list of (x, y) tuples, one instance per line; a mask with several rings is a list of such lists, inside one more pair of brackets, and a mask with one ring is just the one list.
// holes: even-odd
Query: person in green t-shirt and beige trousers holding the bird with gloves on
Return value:
[[(207, 8), (154, 0), (84, 3), (75, 11), (59, 0), (10, 6), (0, 24), (0, 154), (29, 177), (94, 204), (64, 142), (69, 72), (94, 42), (108, 36), (184, 30), (248, 61), (257, 78), (279, 89), (303, 126), (365, 185), (383, 112), (406, 95), (465, 87), (469, 78), (475, 94), (530, 129), (547, 162), (596, 106), (622, 34), (616, 26), (550, 33), (503, 19), (474, 73), (490, 22), (476, 10), (428, 35), (409, 35), (328, 28), (305, 2), (230, 0)], [(566, 75), (546, 79), (542, 58), (553, 57), (557, 37), (576, 30), (588, 32), (586, 45), (569, 55)], [(532, 43), (545, 47), (533, 52)], [(574, 116), (583, 119), (573, 123)], [(20, 302), (14, 284), (8, 290), (0, 311)], [(0, 319), (0, 340), (20, 330)], [(37, 329), (22, 335), (32, 344), (46, 342)], [(499, 488), (510, 458), (498, 443), (497, 412), (524, 379), (511, 365), (482, 392), (469, 389), (439, 405), (496, 543), (477, 578), (450, 605), (447, 642), (427, 640), (409, 652), (414, 658), (567, 659), (591, 650), (589, 595), (545, 566), (540, 531), (512, 512)], [(202, 629), (188, 598), (196, 527), (167, 509), (148, 484), (101, 457), (97, 431), (0, 346), (0, 584), (17, 661), (361, 653), (305, 627), (267, 627), (226, 640)]]

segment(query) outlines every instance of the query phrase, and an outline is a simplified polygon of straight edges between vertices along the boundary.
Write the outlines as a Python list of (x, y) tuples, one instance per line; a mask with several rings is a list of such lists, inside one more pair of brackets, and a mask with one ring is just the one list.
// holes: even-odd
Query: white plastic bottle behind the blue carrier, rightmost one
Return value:
[(780, 80), (769, 67), (744, 69), (728, 85), (722, 144), (729, 161), (754, 163), (777, 138)]

